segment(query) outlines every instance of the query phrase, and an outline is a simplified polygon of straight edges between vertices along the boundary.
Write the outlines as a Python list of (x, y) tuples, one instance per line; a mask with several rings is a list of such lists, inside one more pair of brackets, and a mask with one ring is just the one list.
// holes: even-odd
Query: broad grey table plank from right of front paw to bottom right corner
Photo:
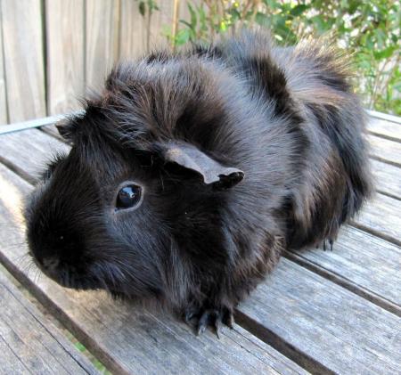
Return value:
[[(282, 258), (240, 306), (240, 321), (266, 342), (318, 358), (338, 373), (393, 374), (401, 361), (401, 319)], [(322, 373), (322, 369), (310, 369)]]

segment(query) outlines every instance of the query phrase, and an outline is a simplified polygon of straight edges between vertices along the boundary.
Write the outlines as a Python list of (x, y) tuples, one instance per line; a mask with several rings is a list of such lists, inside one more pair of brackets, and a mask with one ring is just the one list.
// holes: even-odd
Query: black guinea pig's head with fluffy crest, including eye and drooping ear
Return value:
[(162, 296), (180, 262), (222, 246), (218, 207), (243, 173), (214, 154), (225, 110), (200, 76), (178, 61), (120, 67), (57, 126), (70, 153), (49, 163), (25, 210), (30, 254), (54, 281)]

